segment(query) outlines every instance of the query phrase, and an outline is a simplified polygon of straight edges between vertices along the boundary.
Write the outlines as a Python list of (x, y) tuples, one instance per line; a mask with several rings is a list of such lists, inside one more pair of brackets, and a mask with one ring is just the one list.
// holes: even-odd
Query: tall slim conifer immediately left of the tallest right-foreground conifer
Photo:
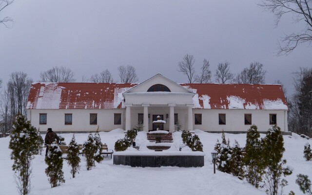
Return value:
[(260, 134), (257, 131), (257, 126), (252, 125), (247, 131), (246, 146), (245, 151), (246, 155), (243, 160), (245, 163), (245, 178), (247, 182), (259, 187), (260, 182), (262, 181), (262, 175), (264, 172), (264, 165), (262, 161), (262, 145), (259, 140)]

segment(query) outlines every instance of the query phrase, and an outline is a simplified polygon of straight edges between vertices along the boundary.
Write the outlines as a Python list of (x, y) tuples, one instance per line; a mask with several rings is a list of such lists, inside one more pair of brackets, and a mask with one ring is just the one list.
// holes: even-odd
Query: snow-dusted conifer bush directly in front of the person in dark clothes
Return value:
[(49, 147), (47, 156), (44, 159), (48, 167), (45, 169), (45, 174), (48, 176), (48, 180), (51, 184), (51, 188), (57, 187), (62, 183), (65, 183), (63, 168), (62, 152), (59, 149), (59, 145), (53, 142)]

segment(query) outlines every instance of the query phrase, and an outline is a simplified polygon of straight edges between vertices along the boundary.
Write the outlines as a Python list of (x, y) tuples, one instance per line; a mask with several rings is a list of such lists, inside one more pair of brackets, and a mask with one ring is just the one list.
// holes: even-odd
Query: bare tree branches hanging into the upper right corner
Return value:
[(294, 22), (305, 24), (304, 28), (297, 33), (286, 35), (279, 44), (277, 55), (287, 55), (298, 44), (303, 42), (312, 43), (312, 1), (311, 0), (261, 0), (259, 4), (264, 10), (273, 12), (275, 25), (278, 25), (284, 14), (292, 14)]

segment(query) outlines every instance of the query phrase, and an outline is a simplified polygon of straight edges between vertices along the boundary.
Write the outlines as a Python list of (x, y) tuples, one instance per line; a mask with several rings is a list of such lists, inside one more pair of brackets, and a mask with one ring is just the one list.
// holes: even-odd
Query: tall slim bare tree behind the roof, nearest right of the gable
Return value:
[(186, 75), (189, 83), (194, 82), (194, 74), (195, 74), (195, 69), (193, 66), (194, 63), (195, 63), (194, 56), (186, 54), (183, 57), (182, 61), (179, 61), (177, 64), (178, 66), (177, 71)]

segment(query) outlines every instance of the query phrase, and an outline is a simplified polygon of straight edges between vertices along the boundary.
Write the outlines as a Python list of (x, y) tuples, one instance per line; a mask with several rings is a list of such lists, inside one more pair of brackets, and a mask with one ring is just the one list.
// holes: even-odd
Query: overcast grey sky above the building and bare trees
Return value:
[(177, 62), (188, 53), (197, 72), (208, 59), (213, 74), (225, 60), (232, 73), (259, 61), (266, 82), (280, 79), (289, 96), (292, 72), (312, 66), (312, 47), (301, 44), (275, 56), (278, 39), (303, 24), (289, 16), (275, 27), (259, 1), (15, 0), (0, 12), (15, 20), (10, 29), (0, 26), (0, 78), (7, 82), (23, 71), (38, 81), (40, 72), (65, 66), (77, 81), (105, 69), (118, 81), (117, 67), (131, 64), (140, 82), (161, 73), (182, 83), (187, 77), (177, 72)]

